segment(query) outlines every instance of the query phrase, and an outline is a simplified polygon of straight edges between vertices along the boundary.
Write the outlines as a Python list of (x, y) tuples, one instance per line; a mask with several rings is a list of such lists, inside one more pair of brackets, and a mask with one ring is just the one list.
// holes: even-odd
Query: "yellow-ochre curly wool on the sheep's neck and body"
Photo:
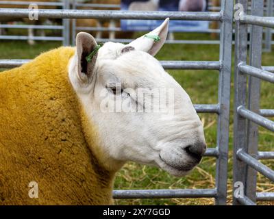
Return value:
[[(114, 172), (86, 140), (85, 116), (68, 77), (72, 47), (0, 73), (0, 205), (112, 203)], [(93, 136), (96, 136), (96, 131)], [(29, 198), (29, 182), (38, 198)]]

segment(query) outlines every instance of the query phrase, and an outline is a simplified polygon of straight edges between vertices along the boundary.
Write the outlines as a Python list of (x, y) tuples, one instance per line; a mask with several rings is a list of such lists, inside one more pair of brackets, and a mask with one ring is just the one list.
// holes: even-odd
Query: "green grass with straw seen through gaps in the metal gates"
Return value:
[[(185, 34), (177, 36), (180, 39), (208, 39), (206, 34)], [(60, 46), (58, 42), (38, 42), (32, 47), (26, 42), (1, 42), (0, 59), (29, 59), (47, 51), (51, 48)], [(274, 49), (274, 48), (273, 48)], [(172, 45), (165, 44), (163, 49), (158, 53), (159, 60), (197, 60), (197, 61), (217, 61), (219, 60), (219, 45)], [(264, 53), (263, 65), (274, 65), (274, 53)], [(232, 68), (234, 70), (234, 68)], [(168, 70), (173, 77), (188, 92), (193, 103), (195, 104), (215, 104), (218, 100), (218, 80), (219, 73), (216, 70)], [(231, 99), (231, 116), (229, 127), (229, 171), (228, 171), (228, 201), (231, 203), (232, 198), (232, 136), (233, 136), (233, 73), (232, 73), (232, 99)], [(262, 83), (261, 107), (274, 108), (274, 92), (271, 83)], [(216, 126), (217, 116), (209, 114), (200, 114), (204, 123), (206, 141), (208, 146), (216, 146)], [(273, 151), (274, 134), (260, 129), (260, 151)], [(172, 177), (163, 170), (142, 166), (129, 162), (124, 168), (117, 173), (114, 188), (123, 189), (176, 189), (176, 188), (214, 188), (215, 186), (215, 168), (216, 159), (205, 157), (198, 168), (192, 171), (187, 177)], [(271, 168), (274, 168), (274, 162), (264, 162)], [(264, 177), (258, 177), (258, 191), (268, 190), (274, 192), (273, 184)], [(213, 204), (212, 198), (200, 199), (134, 199), (134, 200), (117, 200), (116, 204), (121, 205), (208, 205)], [(271, 203), (268, 203), (271, 204)], [(272, 203), (273, 204), (273, 203)]]

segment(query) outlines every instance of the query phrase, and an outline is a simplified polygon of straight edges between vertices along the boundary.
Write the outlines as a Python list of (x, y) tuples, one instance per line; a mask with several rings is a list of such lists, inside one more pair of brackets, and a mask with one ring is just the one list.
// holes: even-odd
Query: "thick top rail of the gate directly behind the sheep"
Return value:
[[(0, 9), (0, 17), (28, 18), (28, 9)], [(97, 19), (143, 19), (143, 20), (186, 20), (222, 21), (221, 12), (149, 12), (118, 10), (39, 10), (39, 18), (97, 18)]]

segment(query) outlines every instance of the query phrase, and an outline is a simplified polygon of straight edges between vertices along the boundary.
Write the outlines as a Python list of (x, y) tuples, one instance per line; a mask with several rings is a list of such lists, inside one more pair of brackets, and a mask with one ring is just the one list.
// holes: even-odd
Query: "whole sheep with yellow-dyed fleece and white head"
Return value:
[[(109, 205), (115, 173), (127, 161), (178, 177), (199, 164), (206, 150), (201, 120), (153, 57), (168, 25), (167, 18), (127, 45), (101, 48), (80, 32), (75, 48), (53, 49), (0, 74), (0, 205)], [(129, 88), (172, 89), (173, 114), (101, 110), (114, 97), (140, 101)], [(29, 195), (32, 183), (37, 196)]]

